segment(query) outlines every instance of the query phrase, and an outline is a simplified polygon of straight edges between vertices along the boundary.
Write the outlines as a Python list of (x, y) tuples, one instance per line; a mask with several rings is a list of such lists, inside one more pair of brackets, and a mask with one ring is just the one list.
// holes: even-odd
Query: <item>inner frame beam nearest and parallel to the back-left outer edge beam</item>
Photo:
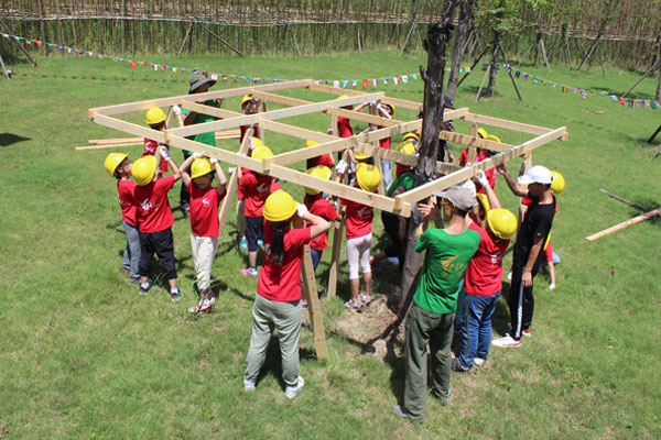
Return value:
[(235, 127), (239, 127), (239, 125), (253, 124), (253, 123), (257, 123), (259, 121), (259, 119), (278, 120), (278, 119), (283, 119), (283, 118), (297, 117), (301, 114), (314, 113), (314, 112), (323, 111), (323, 110), (327, 109), (328, 107), (342, 107), (342, 106), (360, 103), (366, 100), (369, 101), (369, 100), (378, 99), (381, 96), (383, 96), (383, 92), (370, 94), (370, 95), (365, 95), (365, 96), (359, 96), (359, 97), (349, 97), (349, 98), (344, 98), (344, 99), (336, 99), (336, 100), (332, 100), (332, 101), (315, 102), (315, 103), (311, 103), (307, 106), (297, 106), (297, 107), (291, 107), (291, 108), (286, 108), (286, 109), (268, 111), (266, 113), (246, 114), (246, 116), (241, 116), (241, 117), (224, 119), (221, 121), (204, 122), (204, 123), (188, 125), (188, 127), (184, 127), (184, 128), (180, 128), (180, 129), (171, 129), (171, 130), (167, 130), (167, 132), (171, 134), (177, 135), (177, 136), (182, 136), (182, 138), (191, 136), (191, 135), (195, 135), (195, 134), (199, 134), (199, 133), (207, 133), (210, 131), (218, 131), (218, 130), (235, 128)]

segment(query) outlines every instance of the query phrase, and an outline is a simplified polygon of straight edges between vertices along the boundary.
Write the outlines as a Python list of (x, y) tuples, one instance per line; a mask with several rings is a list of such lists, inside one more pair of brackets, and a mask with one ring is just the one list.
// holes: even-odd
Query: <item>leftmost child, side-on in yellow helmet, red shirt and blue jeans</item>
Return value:
[(127, 233), (127, 248), (124, 249), (121, 273), (129, 272), (129, 283), (140, 283), (140, 232), (136, 204), (133, 202), (133, 188), (131, 180), (131, 161), (128, 153), (110, 153), (104, 163), (106, 170), (117, 179), (117, 193), (121, 207), (121, 222)]

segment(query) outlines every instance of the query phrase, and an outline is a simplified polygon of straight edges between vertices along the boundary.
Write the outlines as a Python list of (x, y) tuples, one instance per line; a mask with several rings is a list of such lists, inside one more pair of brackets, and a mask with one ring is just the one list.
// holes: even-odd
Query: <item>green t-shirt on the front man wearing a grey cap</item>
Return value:
[(478, 245), (479, 233), (472, 229), (460, 234), (427, 229), (418, 238), (415, 252), (426, 250), (413, 296), (418, 307), (434, 314), (455, 311), (459, 284)]

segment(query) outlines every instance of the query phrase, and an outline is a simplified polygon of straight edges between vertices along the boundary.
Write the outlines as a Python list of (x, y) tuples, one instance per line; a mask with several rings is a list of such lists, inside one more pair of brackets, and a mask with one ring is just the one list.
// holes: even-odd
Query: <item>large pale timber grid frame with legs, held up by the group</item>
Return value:
[[(326, 92), (335, 95), (328, 100), (321, 102), (310, 102), (306, 100), (291, 98), (274, 94), (274, 91), (291, 90), (291, 89), (307, 88), (310, 90)], [(208, 99), (216, 98), (231, 98), (240, 97), (243, 95), (251, 94), (253, 98), (260, 100), (260, 102), (271, 101), (279, 105), (288, 106), (283, 109), (258, 112), (256, 114), (242, 114), (230, 110), (219, 109), (215, 107), (208, 107), (198, 103), (198, 101), (205, 101)], [(339, 95), (346, 95), (348, 98), (337, 98)], [(342, 183), (332, 180), (324, 180), (303, 172), (292, 169), (289, 165), (294, 163), (303, 162), (312, 157), (316, 157), (323, 154), (335, 153), (343, 150), (351, 148), (355, 152), (368, 153), (375, 157), (375, 162), (380, 169), (381, 158), (390, 160), (398, 164), (415, 166), (418, 158), (412, 155), (399, 153), (394, 150), (384, 150), (378, 146), (378, 141), (381, 139), (390, 138), (397, 134), (403, 134), (410, 131), (421, 131), (422, 120), (413, 121), (398, 121), (381, 118), (375, 114), (367, 114), (348, 110), (345, 107), (365, 103), (369, 101), (380, 101), (392, 106), (411, 109), (418, 111), (420, 108), (419, 102), (409, 101), (398, 98), (389, 98), (384, 92), (371, 92), (366, 94), (353, 89), (342, 89), (336, 87), (329, 87), (321, 84), (316, 84), (312, 79), (303, 79), (295, 81), (274, 82), (262, 86), (249, 86), (235, 89), (208, 91), (205, 94), (197, 95), (184, 95), (172, 98), (161, 98), (140, 102), (123, 103), (118, 106), (100, 107), (89, 109), (89, 118), (98, 124), (106, 125), (112, 129), (117, 129), (127, 133), (131, 133), (141, 138), (149, 138), (154, 141), (169, 144), (182, 150), (188, 150), (191, 152), (204, 152), (209, 157), (216, 157), (218, 161), (227, 162), (235, 167), (245, 167), (252, 169), (253, 172), (268, 174), (282, 180), (290, 182), (295, 185), (306, 186), (315, 188), (333, 196), (349, 199), (362, 205), (370, 206), (372, 208), (393, 212), (402, 217), (411, 216), (412, 206), (429, 196), (434, 191), (447, 189), (456, 184), (459, 184), (468, 178), (476, 176), (480, 169), (489, 169), (497, 165), (500, 165), (514, 157), (524, 157), (527, 166), (531, 163), (531, 154), (534, 148), (538, 148), (554, 140), (566, 141), (568, 133), (566, 128), (562, 127), (559, 129), (546, 129), (543, 127), (529, 125), (520, 122), (507, 121), (503, 119), (491, 118), (472, 113), (468, 108), (447, 110), (444, 112), (444, 120), (463, 119), (473, 122), (472, 134), (460, 134), (455, 132), (441, 132), (440, 138), (449, 142), (464, 144), (468, 147), (468, 157), (475, 156), (476, 148), (488, 148), (497, 152), (490, 158), (478, 162), (476, 164), (468, 165), (466, 167), (458, 167), (444, 162), (437, 162), (436, 172), (442, 177), (414, 188), (408, 193), (399, 195), (394, 198), (387, 197), (381, 185), (380, 194), (372, 194), (364, 191), (359, 188), (349, 187)], [(199, 123), (195, 125), (187, 125), (183, 128), (170, 128), (164, 131), (155, 131), (148, 127), (138, 125), (124, 120), (117, 118), (119, 114), (130, 113), (134, 111), (143, 111), (150, 107), (169, 107), (178, 105), (180, 107), (219, 118), (216, 121)], [(259, 106), (263, 109), (263, 106)], [(285, 124), (280, 120), (285, 118), (292, 118), (310, 113), (325, 113), (330, 117), (330, 124), (334, 129), (334, 133), (337, 133), (337, 118), (345, 117), (356, 121), (362, 121), (370, 124), (382, 127), (382, 129), (373, 130), (370, 132), (364, 132), (356, 134), (351, 138), (340, 139), (335, 135), (321, 133), (314, 130), (307, 130), (292, 124)], [(169, 116), (169, 121), (172, 119), (172, 111)], [(509, 129), (518, 132), (533, 134), (535, 138), (519, 144), (510, 145), (505, 143), (498, 143), (487, 141), (477, 138), (477, 124), (492, 125), (503, 129)], [(186, 136), (193, 136), (201, 133), (218, 132), (220, 130), (237, 129), (241, 125), (253, 125), (259, 138), (264, 136), (264, 131), (277, 132), (293, 138), (303, 140), (312, 140), (319, 142), (318, 145), (294, 150), (286, 153), (275, 154), (272, 157), (263, 161), (258, 161), (247, 155), (249, 148), (249, 140), (253, 135), (253, 130), (248, 129), (243, 141), (237, 148), (237, 152), (209, 146), (199, 142), (186, 139)], [(170, 124), (167, 124), (170, 127)], [(346, 157), (346, 153), (345, 156)], [(228, 182), (228, 196), (226, 197), (219, 213), (219, 233), (223, 232), (227, 216), (234, 200), (234, 194), (237, 190), (238, 178), (237, 173), (232, 173)], [(333, 240), (333, 253), (332, 264), (328, 279), (328, 298), (335, 296), (336, 282), (337, 282), (337, 268), (338, 260), (342, 246), (342, 223), (335, 229), (335, 237)], [(315, 349), (318, 359), (326, 359), (328, 355), (328, 349), (324, 337), (323, 320), (321, 319), (321, 309), (317, 298), (316, 282), (314, 272), (312, 271), (312, 261), (310, 257), (310, 251), (305, 253), (303, 262), (303, 280), (304, 280), (304, 294), (308, 300), (308, 310), (312, 320), (312, 331), (315, 340)]]

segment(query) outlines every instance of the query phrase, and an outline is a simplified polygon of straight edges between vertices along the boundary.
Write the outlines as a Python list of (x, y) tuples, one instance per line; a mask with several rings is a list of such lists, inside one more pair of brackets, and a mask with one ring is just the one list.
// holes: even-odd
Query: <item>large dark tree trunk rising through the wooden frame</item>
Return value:
[[(436, 157), (438, 152), (438, 134), (443, 121), (443, 82), (445, 74), (445, 47), (449, 40), (451, 20), (456, 7), (456, 0), (447, 2), (443, 21), (432, 24), (427, 29), (424, 50), (427, 53), (427, 68), (420, 68), (424, 80), (424, 110), (422, 122), (422, 136), (420, 140), (420, 157), (415, 168), (415, 187), (434, 179), (436, 175)], [(415, 279), (422, 267), (423, 255), (415, 252), (415, 230), (422, 221), (416, 207), (411, 215), (409, 239), (407, 244), (405, 264), (402, 273), (401, 297), (399, 304), (399, 319), (403, 319), (410, 299), (415, 290)]]

